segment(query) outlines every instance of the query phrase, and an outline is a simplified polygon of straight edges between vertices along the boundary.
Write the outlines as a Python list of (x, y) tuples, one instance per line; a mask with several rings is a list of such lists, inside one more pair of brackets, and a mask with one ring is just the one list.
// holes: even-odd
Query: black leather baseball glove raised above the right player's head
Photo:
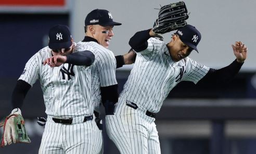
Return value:
[(153, 25), (153, 32), (164, 34), (184, 27), (188, 19), (184, 2), (164, 5), (160, 8), (158, 18)]

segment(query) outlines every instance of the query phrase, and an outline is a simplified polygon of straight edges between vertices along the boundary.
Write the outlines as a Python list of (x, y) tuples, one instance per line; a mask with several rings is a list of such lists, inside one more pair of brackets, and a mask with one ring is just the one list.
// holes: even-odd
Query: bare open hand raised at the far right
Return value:
[(245, 44), (243, 44), (241, 41), (235, 42), (235, 45), (232, 45), (234, 55), (236, 56), (237, 62), (244, 62), (247, 58), (247, 50)]

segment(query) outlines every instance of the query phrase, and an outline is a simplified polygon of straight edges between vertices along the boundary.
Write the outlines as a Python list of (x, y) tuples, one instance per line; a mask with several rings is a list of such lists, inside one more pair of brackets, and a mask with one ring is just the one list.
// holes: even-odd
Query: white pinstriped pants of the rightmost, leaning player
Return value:
[(109, 138), (122, 154), (161, 153), (155, 118), (118, 102), (114, 115), (106, 115)]

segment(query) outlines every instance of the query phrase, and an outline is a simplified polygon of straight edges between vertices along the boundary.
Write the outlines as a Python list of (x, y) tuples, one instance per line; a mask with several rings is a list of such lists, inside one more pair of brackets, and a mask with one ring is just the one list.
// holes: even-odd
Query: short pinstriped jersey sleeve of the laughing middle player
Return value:
[(100, 52), (95, 58), (95, 65), (99, 72), (100, 86), (106, 87), (117, 84), (116, 58), (108, 52)]

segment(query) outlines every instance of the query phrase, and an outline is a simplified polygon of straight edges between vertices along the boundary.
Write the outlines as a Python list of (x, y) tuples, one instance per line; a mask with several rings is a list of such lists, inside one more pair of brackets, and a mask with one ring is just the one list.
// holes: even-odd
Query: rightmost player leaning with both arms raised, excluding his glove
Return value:
[(130, 39), (137, 57), (120, 94), (114, 115), (106, 116), (110, 139), (121, 153), (161, 153), (155, 124), (163, 100), (181, 81), (222, 83), (238, 73), (247, 57), (242, 42), (232, 45), (236, 59), (219, 70), (190, 59), (201, 40), (192, 25), (178, 29), (165, 44), (152, 29), (139, 31)]

